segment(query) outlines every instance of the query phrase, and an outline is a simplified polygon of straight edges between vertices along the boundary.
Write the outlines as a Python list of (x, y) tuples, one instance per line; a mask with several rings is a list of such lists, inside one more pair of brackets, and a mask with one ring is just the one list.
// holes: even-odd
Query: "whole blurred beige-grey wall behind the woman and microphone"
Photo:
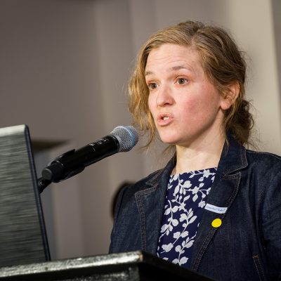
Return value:
[[(141, 44), (161, 27), (203, 20), (226, 27), (247, 51), (261, 148), (281, 154), (280, 20), (272, 8), (269, 0), (1, 0), (0, 126), (25, 123), (33, 138), (69, 141), (39, 155), (44, 166), (46, 157), (129, 124), (124, 92)], [(157, 162), (135, 149), (50, 186), (44, 206), (53, 256), (106, 253), (113, 193)]]

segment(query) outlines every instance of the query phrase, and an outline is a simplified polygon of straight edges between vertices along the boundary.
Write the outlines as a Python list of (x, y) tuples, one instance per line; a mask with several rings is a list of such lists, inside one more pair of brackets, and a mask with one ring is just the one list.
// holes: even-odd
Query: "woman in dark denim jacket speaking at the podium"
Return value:
[(146, 42), (129, 109), (148, 145), (157, 131), (175, 153), (120, 193), (110, 252), (147, 251), (215, 280), (280, 277), (281, 158), (244, 148), (245, 74), (218, 27), (183, 22)]

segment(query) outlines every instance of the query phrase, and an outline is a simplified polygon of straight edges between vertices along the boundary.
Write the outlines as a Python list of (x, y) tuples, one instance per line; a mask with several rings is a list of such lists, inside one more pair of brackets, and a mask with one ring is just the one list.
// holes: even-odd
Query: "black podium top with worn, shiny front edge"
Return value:
[(1, 281), (208, 281), (207, 277), (142, 251), (0, 268)]

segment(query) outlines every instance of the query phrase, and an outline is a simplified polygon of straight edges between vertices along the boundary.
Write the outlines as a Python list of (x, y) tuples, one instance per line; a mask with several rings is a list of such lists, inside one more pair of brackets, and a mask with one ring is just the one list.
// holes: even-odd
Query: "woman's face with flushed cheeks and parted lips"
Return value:
[(152, 49), (145, 80), (148, 106), (164, 143), (190, 147), (221, 133), (224, 99), (194, 48), (164, 44)]

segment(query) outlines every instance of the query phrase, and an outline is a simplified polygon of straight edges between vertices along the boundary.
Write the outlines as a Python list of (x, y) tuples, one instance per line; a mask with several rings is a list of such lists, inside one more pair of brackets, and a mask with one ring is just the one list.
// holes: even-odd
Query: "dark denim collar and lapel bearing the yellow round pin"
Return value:
[(235, 200), (240, 188), (241, 172), (247, 166), (247, 159), (244, 147), (229, 137), (229, 145), (225, 144), (211, 192), (207, 198), (207, 204), (212, 207), (226, 208), (223, 214), (204, 209), (200, 227), (197, 230), (197, 237), (192, 250), (191, 269), (197, 270), (204, 252), (207, 250), (211, 239), (216, 234), (218, 228), (211, 226), (215, 218), (223, 218), (228, 213), (231, 204)]

